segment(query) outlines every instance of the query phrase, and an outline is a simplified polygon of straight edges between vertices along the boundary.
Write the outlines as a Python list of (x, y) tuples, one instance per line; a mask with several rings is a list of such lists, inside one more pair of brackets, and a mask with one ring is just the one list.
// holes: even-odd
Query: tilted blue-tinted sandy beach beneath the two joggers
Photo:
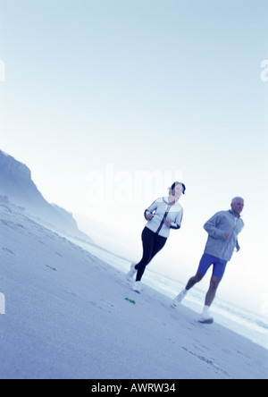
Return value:
[[(1, 379), (265, 379), (268, 351), (0, 206)], [(135, 303), (134, 303), (135, 301)], [(3, 302), (2, 302), (3, 303)]]

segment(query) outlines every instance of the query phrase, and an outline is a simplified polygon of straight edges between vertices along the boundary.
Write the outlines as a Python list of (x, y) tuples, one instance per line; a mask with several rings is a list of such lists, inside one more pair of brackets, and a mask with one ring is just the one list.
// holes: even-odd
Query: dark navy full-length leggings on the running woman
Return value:
[(142, 245), (143, 245), (143, 257), (138, 265), (135, 266), (138, 269), (136, 281), (140, 281), (144, 274), (146, 266), (151, 262), (155, 255), (163, 249), (167, 239), (159, 236), (155, 232), (152, 232), (147, 227), (144, 228), (142, 234)]

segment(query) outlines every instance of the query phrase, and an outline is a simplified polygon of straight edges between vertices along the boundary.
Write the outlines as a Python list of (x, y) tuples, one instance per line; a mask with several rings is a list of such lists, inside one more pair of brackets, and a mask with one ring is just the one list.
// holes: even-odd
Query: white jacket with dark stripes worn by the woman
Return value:
[[(171, 229), (180, 229), (183, 209), (178, 201), (175, 204), (169, 205), (167, 197), (156, 199), (154, 203), (146, 209), (145, 216), (149, 213), (153, 214), (154, 217), (151, 221), (147, 222), (146, 227), (152, 232), (167, 239)], [(164, 224), (165, 219), (170, 221), (171, 227)]]

